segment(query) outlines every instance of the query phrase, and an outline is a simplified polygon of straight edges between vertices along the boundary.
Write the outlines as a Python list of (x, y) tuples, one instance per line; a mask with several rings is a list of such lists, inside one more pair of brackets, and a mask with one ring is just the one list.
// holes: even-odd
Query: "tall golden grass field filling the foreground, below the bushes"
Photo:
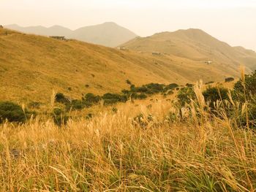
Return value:
[(202, 89), (181, 110), (158, 98), (117, 112), (99, 105), (62, 127), (39, 117), (2, 124), (1, 191), (255, 191), (255, 132), (221, 101), (217, 115), (206, 110)]

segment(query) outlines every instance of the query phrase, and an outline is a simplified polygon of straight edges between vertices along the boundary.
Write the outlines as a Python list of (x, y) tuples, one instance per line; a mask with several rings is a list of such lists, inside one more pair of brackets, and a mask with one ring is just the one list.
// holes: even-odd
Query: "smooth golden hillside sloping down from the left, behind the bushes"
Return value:
[[(222, 56), (223, 61), (218, 58), (209, 65), (201, 61), (203, 53), (197, 50), (197, 60), (192, 59), (192, 49), (188, 56), (152, 55), (0, 28), (0, 101), (49, 102), (53, 89), (74, 99), (82, 93), (119, 93), (129, 88), (127, 79), (135, 85), (185, 85), (200, 79), (223, 81), (239, 76), (238, 61)], [(248, 54), (245, 51), (244, 57)]]

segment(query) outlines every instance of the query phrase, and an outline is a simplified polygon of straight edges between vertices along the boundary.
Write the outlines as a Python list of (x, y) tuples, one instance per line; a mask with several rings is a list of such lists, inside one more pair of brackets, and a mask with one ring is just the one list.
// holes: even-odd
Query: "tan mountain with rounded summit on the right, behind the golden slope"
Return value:
[(235, 69), (239, 65), (245, 65), (247, 72), (256, 69), (254, 51), (242, 47), (231, 47), (200, 29), (190, 28), (154, 34), (151, 37), (138, 37), (122, 46), (140, 52), (175, 55), (192, 61), (212, 61), (212, 64)]

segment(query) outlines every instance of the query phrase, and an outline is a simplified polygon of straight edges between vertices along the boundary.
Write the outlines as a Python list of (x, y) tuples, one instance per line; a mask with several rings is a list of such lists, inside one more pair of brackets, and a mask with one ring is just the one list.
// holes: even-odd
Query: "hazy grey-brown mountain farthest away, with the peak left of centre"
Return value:
[(5, 26), (15, 31), (26, 34), (37, 34), (43, 36), (65, 36), (67, 39), (78, 39), (83, 42), (90, 42), (107, 47), (116, 47), (124, 42), (137, 37), (127, 28), (118, 26), (116, 23), (108, 22), (97, 26), (86, 26), (75, 31), (62, 26), (43, 26), (20, 27), (18, 25)]

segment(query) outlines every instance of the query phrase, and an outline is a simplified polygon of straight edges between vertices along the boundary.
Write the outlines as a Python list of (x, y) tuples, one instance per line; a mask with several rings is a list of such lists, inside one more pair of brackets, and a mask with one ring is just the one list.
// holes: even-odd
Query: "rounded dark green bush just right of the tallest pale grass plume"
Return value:
[(208, 87), (206, 91), (203, 91), (203, 96), (206, 101), (210, 103), (210, 107), (214, 108), (214, 102), (218, 100), (227, 100), (228, 99), (228, 90), (227, 88), (222, 87)]

